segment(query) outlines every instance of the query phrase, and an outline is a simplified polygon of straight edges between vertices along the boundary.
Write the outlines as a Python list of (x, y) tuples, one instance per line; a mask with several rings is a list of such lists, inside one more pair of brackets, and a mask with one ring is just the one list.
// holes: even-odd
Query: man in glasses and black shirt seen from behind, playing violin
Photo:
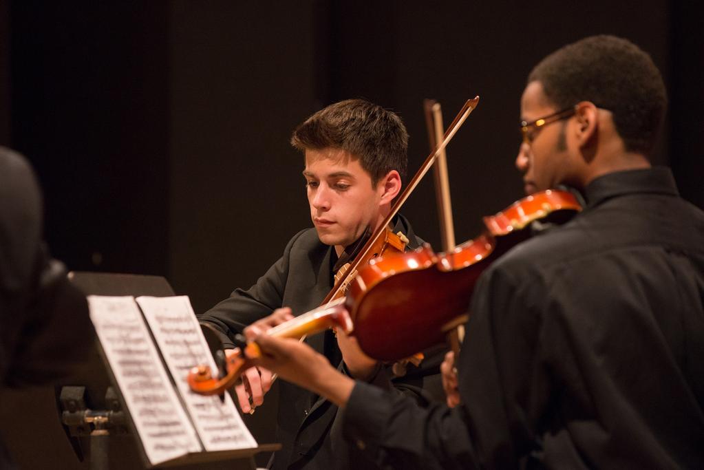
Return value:
[(417, 407), (255, 325), (259, 363), (341, 407), (346, 438), (389, 468), (704, 468), (704, 213), (650, 167), (666, 101), (650, 57), (616, 37), (531, 72), (527, 191), (569, 184), (587, 204), (480, 277), (457, 406)]

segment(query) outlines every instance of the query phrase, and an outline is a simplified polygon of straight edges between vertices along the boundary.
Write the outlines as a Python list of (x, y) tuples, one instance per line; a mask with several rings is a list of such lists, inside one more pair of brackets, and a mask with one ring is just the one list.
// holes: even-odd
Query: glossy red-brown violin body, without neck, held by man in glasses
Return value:
[(372, 260), (348, 290), (360, 348), (377, 360), (394, 361), (442, 343), (448, 331), (467, 322), (479, 275), (528, 239), (532, 222), (560, 224), (580, 210), (572, 193), (542, 191), (484, 217), (483, 233), (448, 253), (425, 245)]

